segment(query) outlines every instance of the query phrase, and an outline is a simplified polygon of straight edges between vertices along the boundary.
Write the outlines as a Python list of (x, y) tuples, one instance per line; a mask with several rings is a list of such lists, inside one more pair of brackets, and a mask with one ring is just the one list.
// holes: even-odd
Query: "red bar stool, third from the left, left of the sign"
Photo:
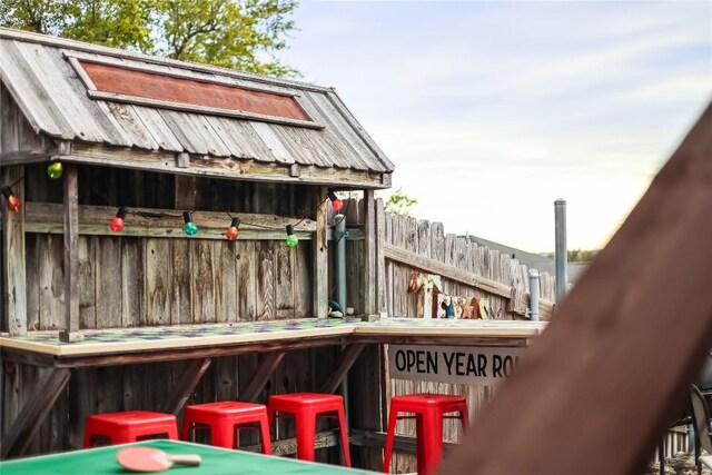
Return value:
[[(297, 425), (297, 458), (314, 462), (314, 442), (316, 439), (316, 418), (324, 413), (336, 413), (324, 417), (337, 417), (342, 433), (342, 449), (347, 467), (352, 466), (348, 449), (348, 428), (344, 416), (344, 398), (334, 394), (293, 393), (269, 396), (267, 402), (269, 424), (273, 419), (294, 417)], [(275, 415), (275, 413), (286, 413)]]

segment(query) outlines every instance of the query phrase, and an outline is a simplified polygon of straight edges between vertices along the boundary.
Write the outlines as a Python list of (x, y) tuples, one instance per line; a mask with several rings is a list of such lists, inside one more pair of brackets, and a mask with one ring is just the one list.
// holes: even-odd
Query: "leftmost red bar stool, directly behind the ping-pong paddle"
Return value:
[(96, 414), (87, 418), (85, 448), (91, 447), (96, 436), (108, 437), (109, 444), (116, 445), (162, 435), (178, 439), (178, 425), (172, 414), (146, 410)]

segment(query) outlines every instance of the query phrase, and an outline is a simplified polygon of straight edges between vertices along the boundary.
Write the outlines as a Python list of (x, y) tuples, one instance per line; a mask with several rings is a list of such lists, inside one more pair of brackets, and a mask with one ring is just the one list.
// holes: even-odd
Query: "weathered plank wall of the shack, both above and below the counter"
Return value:
[[(61, 180), (48, 179), (44, 168), (26, 167), (27, 200), (61, 202)], [(296, 217), (295, 222), (301, 217), (314, 218), (314, 197), (306, 186), (197, 179), (196, 190), (199, 210), (274, 214)], [(82, 205), (175, 208), (175, 181), (169, 175), (79, 167), (79, 195)], [(110, 219), (107, 216), (107, 225)], [(226, 215), (226, 227), (228, 224)], [(62, 235), (27, 234), (26, 240), (28, 329), (61, 328)], [(81, 328), (313, 315), (309, 243), (290, 249), (281, 240), (80, 236), (79, 259)], [(338, 350), (327, 347), (288, 353), (258, 400), (266, 400), (269, 394), (318, 390)], [(188, 404), (238, 398), (258, 362), (257, 355), (216, 358)], [(27, 455), (80, 447), (90, 414), (160, 410), (185, 367), (186, 362), (177, 362), (75, 370)], [(0, 386), (3, 432), (42, 375), (42, 369), (33, 366), (4, 362)], [(257, 443), (256, 434), (250, 433), (245, 432), (243, 444)], [(280, 423), (276, 435), (294, 437), (293, 424)], [(334, 461), (338, 451), (317, 454), (327, 462)]]

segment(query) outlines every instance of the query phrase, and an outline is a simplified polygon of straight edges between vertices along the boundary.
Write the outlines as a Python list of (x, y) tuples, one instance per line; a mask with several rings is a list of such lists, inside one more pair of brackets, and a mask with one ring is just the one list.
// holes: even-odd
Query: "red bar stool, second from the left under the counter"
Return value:
[(224, 448), (238, 448), (236, 429), (259, 428), (263, 454), (271, 455), (267, 407), (263, 404), (224, 400), (186, 406), (180, 438), (188, 441), (190, 431), (201, 427), (210, 429), (211, 445)]

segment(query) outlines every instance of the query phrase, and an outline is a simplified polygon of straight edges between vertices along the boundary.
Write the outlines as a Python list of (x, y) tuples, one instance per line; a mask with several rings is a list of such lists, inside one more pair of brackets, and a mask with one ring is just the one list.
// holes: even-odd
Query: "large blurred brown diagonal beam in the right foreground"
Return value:
[(441, 474), (645, 471), (712, 342), (710, 157), (712, 105)]

